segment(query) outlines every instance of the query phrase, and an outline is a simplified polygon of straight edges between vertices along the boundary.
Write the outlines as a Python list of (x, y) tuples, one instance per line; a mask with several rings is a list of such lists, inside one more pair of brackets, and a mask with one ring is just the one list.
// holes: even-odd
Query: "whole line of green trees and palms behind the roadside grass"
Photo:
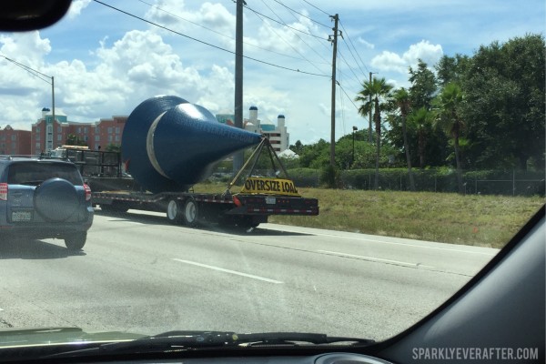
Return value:
[[(329, 143), (299, 140), (290, 149), (297, 167), (339, 169), (453, 167), (462, 191), (462, 170), (544, 170), (545, 69), (543, 35), (481, 45), (473, 56), (442, 56), (436, 65), (419, 60), (409, 68), (408, 88), (385, 78), (362, 82), (355, 97), (359, 114), (373, 121), (336, 143), (329, 167)], [(294, 166), (296, 167), (296, 166)]]

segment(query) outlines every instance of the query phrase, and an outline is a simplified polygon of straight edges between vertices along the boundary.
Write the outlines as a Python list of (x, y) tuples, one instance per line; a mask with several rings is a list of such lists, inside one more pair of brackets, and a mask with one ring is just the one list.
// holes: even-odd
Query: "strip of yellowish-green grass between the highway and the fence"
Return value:
[[(212, 192), (213, 188), (217, 191), (213, 184), (202, 184), (196, 191)], [(490, 248), (504, 247), (544, 204), (544, 197), (325, 188), (298, 191), (303, 197), (319, 199), (319, 216), (271, 216), (269, 222)]]

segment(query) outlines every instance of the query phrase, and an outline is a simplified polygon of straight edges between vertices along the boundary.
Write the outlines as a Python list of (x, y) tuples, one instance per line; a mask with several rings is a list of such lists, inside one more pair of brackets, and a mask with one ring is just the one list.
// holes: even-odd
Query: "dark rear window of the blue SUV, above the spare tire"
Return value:
[(73, 185), (83, 185), (76, 166), (64, 163), (23, 162), (14, 163), (8, 169), (10, 185), (39, 185), (49, 178), (64, 178)]

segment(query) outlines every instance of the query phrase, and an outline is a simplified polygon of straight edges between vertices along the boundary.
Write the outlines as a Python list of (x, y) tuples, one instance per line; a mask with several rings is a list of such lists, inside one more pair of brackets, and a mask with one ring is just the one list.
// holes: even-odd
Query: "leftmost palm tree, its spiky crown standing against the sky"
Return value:
[[(359, 114), (361, 116), (368, 115), (370, 110), (374, 110), (373, 120), (376, 129), (376, 173), (374, 179), (374, 188), (379, 187), (379, 151), (381, 145), (381, 108), (385, 102), (386, 97), (389, 96), (392, 86), (387, 84), (385, 78), (378, 79), (373, 77), (371, 82), (364, 81), (362, 84), (362, 90), (355, 97), (355, 101), (359, 101), (362, 105), (359, 107)], [(371, 96), (371, 101), (369, 100)]]

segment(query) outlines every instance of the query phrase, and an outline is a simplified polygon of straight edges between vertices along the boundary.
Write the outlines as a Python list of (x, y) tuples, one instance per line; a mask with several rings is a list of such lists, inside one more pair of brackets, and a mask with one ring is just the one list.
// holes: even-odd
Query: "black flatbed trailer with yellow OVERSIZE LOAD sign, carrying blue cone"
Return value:
[[(294, 183), (287, 178), (252, 176), (256, 161), (268, 151), (272, 164), (282, 167), (275, 151), (264, 138), (247, 163), (238, 171), (223, 193), (184, 192), (151, 193), (140, 187), (135, 179), (125, 174), (119, 153), (66, 149), (57, 157), (72, 160), (91, 187), (93, 206), (104, 211), (126, 212), (128, 209), (166, 213), (173, 224), (194, 227), (200, 222), (212, 222), (237, 227), (257, 227), (268, 222), (272, 215), (319, 215), (316, 198), (300, 197)], [(239, 193), (231, 188), (243, 171), (254, 161)]]

